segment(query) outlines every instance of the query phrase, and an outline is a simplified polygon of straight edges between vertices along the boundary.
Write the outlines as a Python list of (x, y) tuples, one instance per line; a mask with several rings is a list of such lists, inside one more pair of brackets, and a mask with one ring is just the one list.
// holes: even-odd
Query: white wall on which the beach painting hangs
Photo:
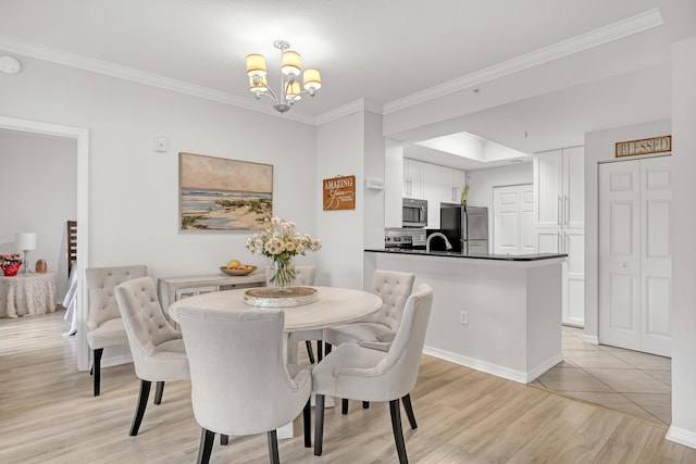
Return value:
[[(0, 81), (3, 114), (90, 131), (90, 266), (144, 263), (157, 278), (215, 274), (232, 258), (266, 264), (245, 249), (248, 231), (178, 231), (179, 151), (273, 164), (274, 213), (316, 233), (314, 127), (44, 61), (23, 63)], [(169, 139), (166, 153), (153, 152), (154, 137)]]

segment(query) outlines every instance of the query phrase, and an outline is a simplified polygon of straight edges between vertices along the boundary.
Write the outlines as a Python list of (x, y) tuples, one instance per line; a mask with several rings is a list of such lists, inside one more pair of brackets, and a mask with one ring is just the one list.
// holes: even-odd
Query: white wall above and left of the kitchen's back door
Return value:
[(467, 183), (469, 184), (467, 204), (488, 209), (488, 252), (493, 252), (493, 188), (532, 184), (533, 181), (533, 163), (517, 163), (509, 166), (467, 172)]

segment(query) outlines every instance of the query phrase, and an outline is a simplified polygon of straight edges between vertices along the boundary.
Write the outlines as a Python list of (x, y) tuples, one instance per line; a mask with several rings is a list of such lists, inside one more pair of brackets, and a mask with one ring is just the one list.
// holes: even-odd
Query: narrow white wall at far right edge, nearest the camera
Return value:
[[(692, 5), (693, 9), (693, 5)], [(694, 30), (693, 21), (689, 22)], [(672, 46), (672, 426), (696, 448), (696, 37)]]

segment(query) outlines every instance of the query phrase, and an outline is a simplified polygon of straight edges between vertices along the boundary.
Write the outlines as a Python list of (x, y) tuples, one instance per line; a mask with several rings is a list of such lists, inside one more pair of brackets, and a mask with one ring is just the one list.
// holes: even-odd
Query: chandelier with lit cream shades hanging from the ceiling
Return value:
[(254, 92), (257, 100), (261, 100), (261, 96), (269, 97), (273, 100), (273, 108), (285, 113), (296, 101), (302, 99), (302, 95), (309, 93), (314, 97), (316, 90), (322, 86), (322, 78), (319, 70), (308, 67), (302, 73), (302, 88), (297, 76), (302, 71), (300, 67), (300, 54), (289, 50), (290, 45), (285, 40), (276, 40), (273, 46), (281, 50), (281, 91), (276, 95), (266, 81), (265, 59), (262, 54), (251, 53), (247, 55), (247, 75), (249, 76), (249, 90)]

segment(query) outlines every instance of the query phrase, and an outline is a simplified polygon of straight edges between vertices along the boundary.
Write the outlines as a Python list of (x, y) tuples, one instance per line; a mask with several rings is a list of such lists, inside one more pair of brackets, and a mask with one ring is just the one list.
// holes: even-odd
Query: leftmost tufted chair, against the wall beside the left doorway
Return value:
[(98, 397), (101, 384), (101, 355), (104, 348), (128, 344), (113, 290), (126, 280), (147, 276), (148, 268), (144, 265), (89, 267), (85, 271), (85, 275), (89, 289), (87, 344), (92, 350), (91, 373), (95, 377), (95, 397)]

